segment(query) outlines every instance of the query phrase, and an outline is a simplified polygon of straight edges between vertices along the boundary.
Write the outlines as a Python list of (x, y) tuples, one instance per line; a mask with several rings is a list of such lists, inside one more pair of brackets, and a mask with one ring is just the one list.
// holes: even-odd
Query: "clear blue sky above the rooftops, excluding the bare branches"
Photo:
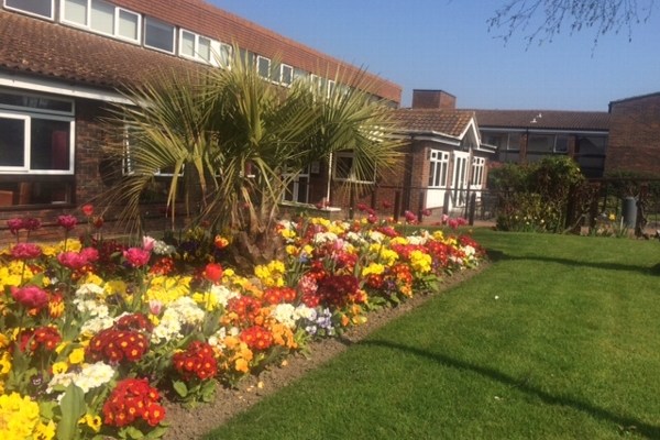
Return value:
[[(403, 87), (442, 89), (459, 108), (607, 111), (660, 91), (660, 7), (627, 34), (564, 32), (527, 47), (488, 33), (504, 0), (208, 0)], [(484, 6), (488, 4), (488, 6)]]

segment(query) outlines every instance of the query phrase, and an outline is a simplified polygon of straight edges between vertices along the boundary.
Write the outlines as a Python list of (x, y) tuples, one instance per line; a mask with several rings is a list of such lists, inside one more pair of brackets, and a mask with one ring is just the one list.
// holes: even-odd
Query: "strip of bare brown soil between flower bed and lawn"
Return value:
[[(484, 267), (485, 264), (482, 264), (479, 270), (465, 271), (444, 278), (441, 292), (475, 275)], [(361, 341), (375, 329), (421, 306), (431, 297), (432, 295), (418, 294), (396, 308), (371, 312), (366, 323), (350, 328), (341, 338), (312, 342), (309, 345), (311, 353), (309, 358), (299, 354), (289, 356), (284, 365), (273, 366), (258, 376), (249, 376), (235, 389), (218, 386), (216, 399), (210, 404), (199, 404), (190, 409), (175, 403), (166, 403), (166, 420), (169, 429), (164, 439), (193, 440), (201, 438), (234, 415), (246, 410), (265, 396), (293, 383), (308, 371), (346, 350), (351, 344)]]

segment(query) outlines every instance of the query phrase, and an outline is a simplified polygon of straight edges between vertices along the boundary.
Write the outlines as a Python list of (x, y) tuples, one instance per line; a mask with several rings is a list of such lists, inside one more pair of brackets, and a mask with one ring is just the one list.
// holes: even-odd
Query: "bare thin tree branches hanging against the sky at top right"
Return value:
[(527, 44), (552, 42), (568, 28), (570, 34), (594, 30), (594, 46), (607, 33), (626, 32), (632, 40), (632, 28), (648, 21), (656, 0), (507, 0), (487, 20), (488, 32), (507, 43), (522, 33)]

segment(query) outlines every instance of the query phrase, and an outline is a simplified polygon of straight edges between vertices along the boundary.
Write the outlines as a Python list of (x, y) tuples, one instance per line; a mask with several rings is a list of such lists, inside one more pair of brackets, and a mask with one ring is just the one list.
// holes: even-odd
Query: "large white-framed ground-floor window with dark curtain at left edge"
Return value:
[(70, 201), (74, 132), (73, 101), (0, 90), (0, 207)]

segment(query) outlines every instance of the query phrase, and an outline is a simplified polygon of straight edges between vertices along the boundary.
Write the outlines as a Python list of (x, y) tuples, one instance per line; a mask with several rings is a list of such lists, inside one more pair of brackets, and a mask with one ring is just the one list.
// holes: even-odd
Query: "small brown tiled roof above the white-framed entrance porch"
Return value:
[(453, 109), (399, 109), (395, 112), (396, 121), (407, 131), (435, 132), (452, 138), (460, 138), (474, 111)]

